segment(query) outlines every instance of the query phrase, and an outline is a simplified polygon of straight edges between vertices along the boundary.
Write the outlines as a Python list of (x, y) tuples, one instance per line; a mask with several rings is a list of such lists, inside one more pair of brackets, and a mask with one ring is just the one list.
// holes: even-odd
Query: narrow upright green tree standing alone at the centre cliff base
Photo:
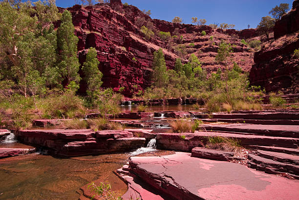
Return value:
[(167, 67), (164, 59), (164, 54), (160, 48), (153, 55), (153, 84), (156, 87), (165, 87), (168, 82)]

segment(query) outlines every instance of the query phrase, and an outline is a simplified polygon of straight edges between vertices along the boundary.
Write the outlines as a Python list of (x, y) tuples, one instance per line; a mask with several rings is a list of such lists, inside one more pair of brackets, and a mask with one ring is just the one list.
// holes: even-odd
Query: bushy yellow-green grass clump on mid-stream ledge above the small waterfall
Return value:
[(195, 130), (199, 130), (202, 125), (201, 120), (175, 120), (171, 121), (173, 133), (194, 133)]

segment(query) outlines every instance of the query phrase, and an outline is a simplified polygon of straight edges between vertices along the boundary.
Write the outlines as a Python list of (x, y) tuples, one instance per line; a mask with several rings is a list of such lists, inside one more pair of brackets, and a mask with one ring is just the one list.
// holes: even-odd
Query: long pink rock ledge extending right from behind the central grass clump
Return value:
[(299, 125), (209, 124), (207, 130), (243, 132), (258, 135), (299, 138)]

